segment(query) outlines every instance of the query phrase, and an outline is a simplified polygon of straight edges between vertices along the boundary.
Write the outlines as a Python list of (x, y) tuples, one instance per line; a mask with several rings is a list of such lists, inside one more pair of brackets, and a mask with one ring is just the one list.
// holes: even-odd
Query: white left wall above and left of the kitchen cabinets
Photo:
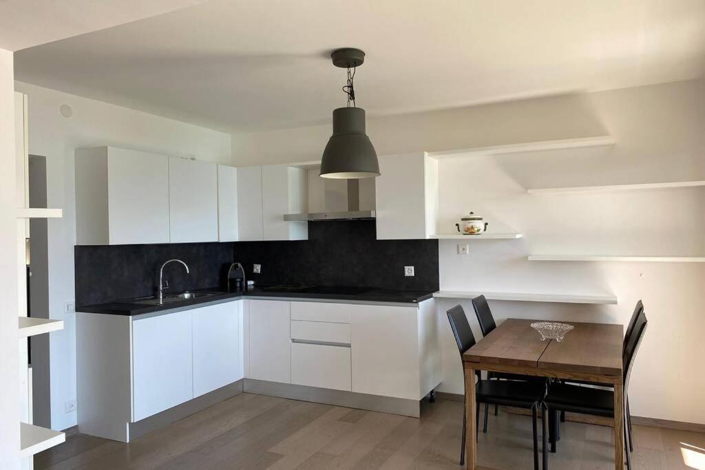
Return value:
[[(63, 209), (63, 218), (49, 221), (48, 235), (49, 315), (64, 320), (64, 329), (51, 333), (49, 345), (51, 427), (64, 429), (76, 423), (75, 413), (64, 412), (66, 400), (76, 397), (75, 318), (63, 314), (64, 302), (74, 298), (74, 149), (114, 145), (229, 163), (230, 136), (21, 82), (16, 82), (15, 88), (28, 96), (30, 154), (47, 157), (47, 205)], [(71, 118), (61, 115), (63, 104), (73, 109)]]

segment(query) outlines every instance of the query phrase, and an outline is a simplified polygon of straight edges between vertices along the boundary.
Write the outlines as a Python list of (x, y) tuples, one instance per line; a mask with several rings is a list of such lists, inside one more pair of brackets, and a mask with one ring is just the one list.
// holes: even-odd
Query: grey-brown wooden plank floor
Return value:
[[(458, 469), (461, 425), (450, 400), (424, 402), (415, 419), (243, 393), (130, 444), (73, 431), (35, 469)], [(563, 423), (549, 467), (614, 469), (611, 435)], [(530, 469), (531, 445), (529, 417), (490, 414), (478, 463)], [(635, 426), (633, 468), (704, 469), (704, 449), (705, 434)]]

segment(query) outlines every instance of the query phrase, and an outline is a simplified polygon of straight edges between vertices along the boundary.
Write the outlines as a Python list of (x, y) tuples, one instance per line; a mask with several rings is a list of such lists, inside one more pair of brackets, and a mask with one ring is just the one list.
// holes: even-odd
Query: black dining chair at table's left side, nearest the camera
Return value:
[[(450, 328), (453, 330), (455, 342), (458, 343), (458, 351), (460, 352), (460, 361), (462, 354), (469, 350), (475, 344), (475, 337), (470, 329), (470, 323), (467, 322), (467, 316), (460, 305), (448, 310), (448, 321)], [(484, 404), (497, 404), (506, 407), (516, 407), (532, 410), (533, 419), (533, 438), (534, 438), (534, 469), (539, 469), (539, 441), (537, 438), (537, 419), (538, 410), (546, 395), (546, 383), (541, 382), (522, 382), (522, 381), (490, 381), (483, 380), (480, 371), (476, 371), (477, 383), (475, 384), (475, 401), (477, 402), (475, 415), (475, 429), (479, 431), (479, 406)], [(463, 383), (465, 382), (465, 366), (462, 368)], [(542, 433), (544, 448), (546, 448), (546, 421), (541, 414), (541, 427), (544, 430)], [(463, 402), (462, 412), (462, 440), (460, 441), (460, 465), (465, 464), (465, 436), (467, 434), (467, 396)], [(544, 457), (546, 458), (546, 457)]]

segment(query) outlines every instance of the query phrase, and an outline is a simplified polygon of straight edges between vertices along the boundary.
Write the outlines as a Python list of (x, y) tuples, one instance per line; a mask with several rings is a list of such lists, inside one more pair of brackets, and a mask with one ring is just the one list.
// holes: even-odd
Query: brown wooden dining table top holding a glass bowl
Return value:
[(607, 376), (622, 375), (622, 325), (570, 322), (575, 328), (562, 342), (541, 341), (531, 323), (506, 319), (463, 354), (479, 364), (506, 364), (560, 369)]

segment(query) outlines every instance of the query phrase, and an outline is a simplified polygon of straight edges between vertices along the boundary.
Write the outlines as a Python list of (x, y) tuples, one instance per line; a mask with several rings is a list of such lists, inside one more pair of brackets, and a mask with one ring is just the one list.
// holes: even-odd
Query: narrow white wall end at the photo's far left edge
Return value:
[(13, 54), (0, 49), (0, 468), (19, 468), (17, 222)]

